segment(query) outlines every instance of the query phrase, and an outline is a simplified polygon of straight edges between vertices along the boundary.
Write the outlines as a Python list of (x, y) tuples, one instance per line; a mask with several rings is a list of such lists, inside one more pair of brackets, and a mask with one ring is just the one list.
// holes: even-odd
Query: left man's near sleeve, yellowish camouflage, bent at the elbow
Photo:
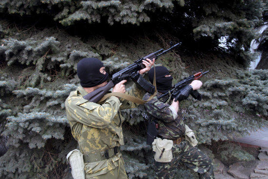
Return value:
[(66, 111), (72, 116), (72, 120), (101, 129), (111, 123), (121, 105), (114, 96), (101, 105), (83, 98), (68, 99), (66, 104)]

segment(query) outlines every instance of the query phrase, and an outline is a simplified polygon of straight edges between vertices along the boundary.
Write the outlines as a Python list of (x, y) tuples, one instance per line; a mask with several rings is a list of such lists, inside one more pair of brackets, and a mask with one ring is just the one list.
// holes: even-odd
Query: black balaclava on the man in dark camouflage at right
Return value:
[[(169, 75), (169, 70), (164, 66), (156, 66), (155, 67), (155, 80), (156, 80), (156, 88), (160, 93), (166, 93), (172, 88), (172, 76), (165, 77)], [(151, 83), (153, 84), (153, 76), (154, 76), (154, 68), (151, 68), (148, 72), (148, 77)]]

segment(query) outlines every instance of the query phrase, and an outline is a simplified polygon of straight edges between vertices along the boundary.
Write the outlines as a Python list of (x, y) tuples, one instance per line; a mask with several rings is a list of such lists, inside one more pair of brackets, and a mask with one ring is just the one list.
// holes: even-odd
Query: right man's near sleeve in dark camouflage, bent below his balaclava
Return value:
[[(146, 93), (143, 99), (146, 100), (149, 97), (150, 94)], [(172, 110), (169, 108), (169, 106), (170, 106), (169, 104), (166, 104), (156, 99), (156, 97), (153, 97), (152, 100), (144, 104), (144, 108), (147, 111), (147, 113), (164, 122), (171, 122), (174, 120)]]

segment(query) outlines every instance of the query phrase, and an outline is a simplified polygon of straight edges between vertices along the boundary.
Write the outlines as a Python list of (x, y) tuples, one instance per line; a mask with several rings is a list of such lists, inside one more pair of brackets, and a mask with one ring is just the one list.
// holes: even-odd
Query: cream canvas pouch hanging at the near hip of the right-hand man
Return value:
[(171, 162), (173, 159), (172, 156), (172, 147), (173, 141), (168, 139), (156, 138), (153, 140), (153, 152), (155, 161), (158, 162)]

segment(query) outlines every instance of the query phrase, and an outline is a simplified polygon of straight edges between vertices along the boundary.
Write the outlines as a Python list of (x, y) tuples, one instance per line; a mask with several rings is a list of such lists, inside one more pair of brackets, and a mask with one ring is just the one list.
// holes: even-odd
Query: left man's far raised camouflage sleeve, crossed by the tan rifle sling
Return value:
[[(126, 92), (126, 94), (142, 99), (143, 95), (145, 94), (145, 91), (142, 89), (142, 87), (140, 87), (138, 84), (134, 82), (134, 84), (131, 86), (131, 89), (128, 92)], [(120, 102), (122, 103), (120, 109), (135, 108), (138, 106), (137, 103), (134, 103), (127, 99), (120, 98)]]

